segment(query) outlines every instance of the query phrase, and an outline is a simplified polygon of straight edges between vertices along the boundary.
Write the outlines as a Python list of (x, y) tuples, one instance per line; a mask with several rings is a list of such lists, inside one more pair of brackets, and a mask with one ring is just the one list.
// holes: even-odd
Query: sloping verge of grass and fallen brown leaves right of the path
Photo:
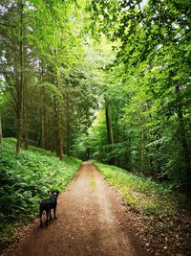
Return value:
[[(114, 186), (147, 251), (156, 256), (191, 255), (191, 200), (146, 177), (95, 162)], [(145, 254), (147, 255), (147, 254)]]

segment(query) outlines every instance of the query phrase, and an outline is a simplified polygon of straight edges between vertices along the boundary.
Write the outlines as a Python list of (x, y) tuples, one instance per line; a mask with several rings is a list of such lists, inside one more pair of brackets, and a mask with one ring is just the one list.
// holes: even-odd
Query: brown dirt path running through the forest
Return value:
[(134, 238), (120, 198), (90, 162), (58, 198), (57, 217), (24, 230), (19, 243), (4, 252), (19, 256), (147, 256)]

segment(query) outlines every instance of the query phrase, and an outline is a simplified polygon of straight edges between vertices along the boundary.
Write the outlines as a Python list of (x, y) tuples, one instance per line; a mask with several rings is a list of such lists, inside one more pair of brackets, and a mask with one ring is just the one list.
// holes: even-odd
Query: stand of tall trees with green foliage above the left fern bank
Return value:
[(91, 125), (96, 94), (90, 72), (83, 68), (86, 3), (80, 1), (80, 8), (78, 4), (41, 0), (1, 4), (3, 134), (16, 137), (20, 130), (26, 148), (31, 143), (58, 151), (58, 144), (66, 140), (64, 150), (70, 154), (74, 133)]

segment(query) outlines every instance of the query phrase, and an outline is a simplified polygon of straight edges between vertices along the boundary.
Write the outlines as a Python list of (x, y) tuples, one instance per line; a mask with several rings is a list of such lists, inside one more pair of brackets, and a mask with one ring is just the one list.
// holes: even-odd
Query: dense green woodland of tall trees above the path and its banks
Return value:
[(190, 0), (2, 0), (0, 143), (191, 186)]

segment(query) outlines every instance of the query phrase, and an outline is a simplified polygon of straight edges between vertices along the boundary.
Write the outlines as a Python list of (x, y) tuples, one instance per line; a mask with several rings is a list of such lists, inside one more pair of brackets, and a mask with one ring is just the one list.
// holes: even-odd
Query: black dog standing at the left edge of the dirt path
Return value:
[(44, 211), (47, 214), (46, 226), (48, 226), (49, 215), (50, 215), (50, 220), (52, 220), (52, 216), (51, 216), (52, 209), (53, 209), (53, 217), (54, 217), (54, 219), (57, 219), (55, 217), (55, 210), (56, 210), (56, 205), (57, 205), (58, 194), (59, 194), (59, 191), (55, 190), (52, 192), (51, 198), (41, 201), (41, 203), (40, 203), (40, 227), (42, 227), (42, 214)]

